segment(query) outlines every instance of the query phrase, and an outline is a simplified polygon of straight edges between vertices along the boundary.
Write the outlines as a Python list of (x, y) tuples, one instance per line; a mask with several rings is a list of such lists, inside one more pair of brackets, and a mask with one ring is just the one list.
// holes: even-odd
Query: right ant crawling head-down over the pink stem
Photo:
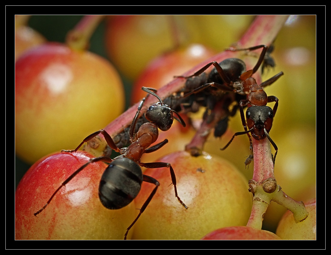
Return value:
[[(277, 155), (278, 148), (276, 144), (272, 141), (270, 136), (268, 135), (271, 126), (273, 117), (276, 114), (277, 107), (278, 107), (278, 98), (275, 96), (267, 96), (265, 91), (263, 90), (263, 87), (272, 84), (275, 82), (280, 76), (283, 75), (283, 72), (280, 72), (276, 74), (275, 76), (271, 77), (269, 80), (264, 81), (260, 85), (257, 84), (256, 80), (252, 77), (252, 75), (259, 69), (260, 65), (262, 64), (263, 60), (265, 59), (268, 47), (266, 45), (258, 45), (251, 48), (244, 48), (244, 49), (229, 49), (233, 51), (239, 51), (239, 50), (255, 50), (262, 48), (262, 52), (260, 54), (260, 57), (258, 59), (258, 62), (254, 66), (252, 70), (246, 71), (245, 63), (237, 58), (228, 58), (223, 60), (220, 63), (217, 63), (216, 61), (210, 62), (207, 65), (205, 65), (203, 68), (195, 72), (193, 75), (190, 76), (177, 76), (181, 78), (188, 79), (186, 81), (186, 84), (198, 84), (203, 82), (203, 85), (200, 85), (199, 87), (193, 89), (191, 92), (188, 92), (186, 94), (183, 94), (183, 97), (190, 96), (192, 94), (199, 93), (200, 91), (203, 91), (207, 87), (215, 87), (218, 90), (224, 92), (234, 92), (235, 94), (239, 96), (245, 96), (245, 98), (237, 97), (234, 99), (234, 101), (239, 102), (240, 106), (240, 115), (242, 124), (244, 126), (245, 131), (244, 132), (237, 132), (234, 134), (232, 139), (229, 143), (225, 145), (225, 147), (221, 148), (221, 150), (224, 150), (229, 146), (229, 144), (232, 142), (235, 136), (237, 135), (243, 135), (247, 134), (250, 140), (250, 150), (253, 150), (252, 145), (252, 139), (249, 133), (252, 134), (252, 137), (256, 140), (264, 139), (265, 137), (268, 138), (270, 143), (275, 148), (276, 152), (273, 156), (273, 164), (275, 163), (275, 158)], [(267, 55), (268, 56), (268, 55)], [(269, 63), (269, 62), (268, 62)], [(270, 65), (266, 63), (266, 65)], [(211, 71), (211, 73), (208, 75), (205, 74), (205, 71), (213, 65), (214, 68)], [(271, 64), (271, 66), (274, 66), (274, 63)], [(203, 75), (200, 77), (199, 75)], [(198, 77), (196, 77), (198, 76)], [(189, 79), (193, 80), (189, 80)], [(198, 82), (195, 82), (195, 80), (198, 80)], [(231, 93), (230, 93), (231, 94)], [(222, 100), (222, 99), (220, 99)], [(224, 99), (223, 99), (224, 100)], [(231, 99), (227, 99), (228, 103), (225, 104), (226, 107), (229, 107), (230, 104), (233, 102)], [(267, 103), (275, 102), (275, 105), (273, 109), (266, 106)], [(246, 119), (247, 119), (247, 125), (246, 120), (244, 117), (244, 110), (243, 108), (250, 105), (246, 111)], [(221, 119), (216, 124), (215, 132), (217, 132), (218, 136), (221, 136), (227, 127), (227, 117), (228, 115), (233, 116), (236, 112), (236, 108), (232, 109), (232, 112), (227, 111), (228, 114), (225, 114), (225, 118)], [(247, 126), (249, 130), (247, 129)], [(248, 160), (245, 161), (245, 165), (248, 165), (251, 160), (253, 160), (253, 156), (249, 156)]]

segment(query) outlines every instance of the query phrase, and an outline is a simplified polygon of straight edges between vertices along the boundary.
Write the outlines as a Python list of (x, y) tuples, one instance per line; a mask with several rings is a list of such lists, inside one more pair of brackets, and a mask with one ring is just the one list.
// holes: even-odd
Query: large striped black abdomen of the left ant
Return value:
[(120, 209), (138, 195), (143, 175), (140, 166), (128, 158), (117, 158), (101, 176), (99, 198), (104, 207)]

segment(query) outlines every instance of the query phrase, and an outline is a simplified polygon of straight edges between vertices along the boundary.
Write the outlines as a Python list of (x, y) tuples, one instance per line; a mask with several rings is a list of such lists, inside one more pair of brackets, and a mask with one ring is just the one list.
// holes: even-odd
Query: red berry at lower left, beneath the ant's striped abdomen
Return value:
[(57, 152), (31, 166), (15, 192), (15, 239), (123, 239), (136, 207), (131, 203), (109, 210), (100, 203), (98, 187), (107, 168), (101, 161), (89, 164), (61, 188), (41, 214), (33, 215), (91, 157), (84, 151)]

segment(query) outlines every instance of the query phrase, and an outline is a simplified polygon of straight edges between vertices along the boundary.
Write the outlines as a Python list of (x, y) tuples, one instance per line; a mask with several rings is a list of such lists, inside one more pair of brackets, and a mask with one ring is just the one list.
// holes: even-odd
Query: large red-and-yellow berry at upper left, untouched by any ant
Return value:
[(15, 150), (25, 162), (76, 146), (123, 109), (117, 71), (91, 52), (49, 43), (15, 63)]

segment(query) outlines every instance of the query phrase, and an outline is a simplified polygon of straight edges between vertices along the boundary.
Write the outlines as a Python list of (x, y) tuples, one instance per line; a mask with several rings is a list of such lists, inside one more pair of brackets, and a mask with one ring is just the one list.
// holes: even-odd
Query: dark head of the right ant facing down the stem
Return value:
[(254, 128), (252, 136), (256, 140), (265, 138), (264, 128), (269, 133), (272, 127), (273, 111), (269, 106), (251, 106), (246, 111), (247, 126)]

